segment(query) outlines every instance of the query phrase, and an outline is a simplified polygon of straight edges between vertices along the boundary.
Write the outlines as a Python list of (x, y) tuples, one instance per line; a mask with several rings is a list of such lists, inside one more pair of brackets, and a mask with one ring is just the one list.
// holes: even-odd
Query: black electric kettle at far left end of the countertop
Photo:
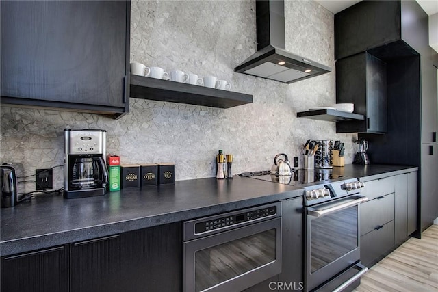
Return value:
[(0, 165), (1, 208), (14, 207), (18, 202), (16, 172), (11, 165)]

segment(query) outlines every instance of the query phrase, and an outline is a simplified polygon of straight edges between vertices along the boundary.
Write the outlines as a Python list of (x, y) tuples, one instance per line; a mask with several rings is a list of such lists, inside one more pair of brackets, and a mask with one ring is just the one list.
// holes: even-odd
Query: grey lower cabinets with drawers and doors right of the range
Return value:
[(371, 267), (417, 230), (417, 172), (361, 181), (361, 261)]

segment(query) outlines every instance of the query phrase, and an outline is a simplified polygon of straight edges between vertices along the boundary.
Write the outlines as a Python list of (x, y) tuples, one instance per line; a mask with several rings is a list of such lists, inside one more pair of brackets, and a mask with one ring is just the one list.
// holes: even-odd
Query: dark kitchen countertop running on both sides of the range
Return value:
[[(345, 165), (333, 172), (365, 181), (415, 171), (403, 165)], [(0, 211), (0, 256), (180, 222), (302, 196), (302, 189), (234, 176), (123, 189), (79, 199), (38, 196)]]

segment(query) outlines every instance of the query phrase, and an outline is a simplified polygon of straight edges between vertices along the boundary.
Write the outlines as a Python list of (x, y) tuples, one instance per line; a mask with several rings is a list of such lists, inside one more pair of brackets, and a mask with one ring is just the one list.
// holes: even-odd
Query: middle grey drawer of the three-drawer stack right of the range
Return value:
[(361, 204), (361, 235), (394, 220), (394, 193)]

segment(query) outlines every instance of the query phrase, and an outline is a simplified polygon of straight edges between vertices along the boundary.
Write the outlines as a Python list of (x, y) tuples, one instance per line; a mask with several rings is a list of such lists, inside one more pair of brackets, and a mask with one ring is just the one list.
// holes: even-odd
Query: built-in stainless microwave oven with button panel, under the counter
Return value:
[(281, 202), (183, 222), (183, 291), (242, 291), (281, 273)]

